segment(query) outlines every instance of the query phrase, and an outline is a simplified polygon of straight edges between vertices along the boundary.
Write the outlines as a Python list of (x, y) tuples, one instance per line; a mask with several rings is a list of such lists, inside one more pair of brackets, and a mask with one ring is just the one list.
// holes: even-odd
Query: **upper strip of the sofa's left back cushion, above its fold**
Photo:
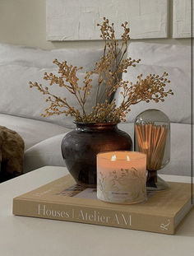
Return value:
[(103, 55), (104, 49), (53, 49), (43, 50), (20, 45), (0, 44), (0, 63), (22, 64), (28, 67), (55, 67), (53, 60), (65, 61), (90, 71)]

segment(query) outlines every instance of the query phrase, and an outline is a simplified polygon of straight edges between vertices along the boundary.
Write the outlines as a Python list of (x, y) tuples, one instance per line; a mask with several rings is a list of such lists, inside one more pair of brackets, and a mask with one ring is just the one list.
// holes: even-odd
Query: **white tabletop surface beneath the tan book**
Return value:
[[(12, 215), (12, 199), (67, 174), (46, 166), (0, 184), (0, 255), (194, 255), (194, 209), (176, 235)], [(161, 175), (169, 181), (191, 178)]]

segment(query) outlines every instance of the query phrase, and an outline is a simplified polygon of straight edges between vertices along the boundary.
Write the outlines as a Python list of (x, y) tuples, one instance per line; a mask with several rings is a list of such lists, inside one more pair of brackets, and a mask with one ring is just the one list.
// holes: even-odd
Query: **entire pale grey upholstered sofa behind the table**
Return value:
[[(190, 50), (191, 48), (187, 46), (137, 42), (131, 43), (128, 48), (127, 55), (132, 58), (141, 58), (141, 64), (136, 67), (138, 69), (129, 69), (130, 77), (125, 77), (127, 74), (124, 74), (124, 79), (136, 79), (139, 74), (136, 71), (140, 73), (166, 71), (172, 76), (170, 77), (172, 81), (170, 86), (173, 87), (175, 94), (174, 96), (169, 95), (161, 107), (164, 108), (162, 109), (164, 113), (170, 116), (171, 121), (182, 123), (171, 123), (171, 161), (159, 173), (190, 175), (192, 126), (185, 124), (190, 123), (191, 119), (188, 113), (190, 105), (188, 99), (191, 97), (188, 82), (191, 78)], [(23, 137), (25, 141), (25, 172), (44, 165), (63, 166), (62, 137), (72, 130), (63, 127), (63, 125), (69, 126), (72, 122), (64, 115), (60, 115), (60, 119), (54, 119), (54, 116), (49, 120), (41, 119), (39, 114), (44, 111), (45, 107), (43, 95), (35, 89), (29, 89), (27, 82), (39, 81), (44, 71), (53, 71), (54, 58), (59, 58), (60, 61), (66, 59), (72, 65), (84, 66), (84, 70), (90, 70), (90, 67), (99, 60), (102, 54), (103, 49), (46, 51), (0, 44), (0, 125), (15, 130)], [(180, 93), (182, 97), (180, 97)], [(119, 96), (116, 94), (114, 97), (119, 100)], [(156, 106), (159, 108), (159, 105)], [(153, 107), (156, 108), (156, 106)], [(150, 107), (151, 105), (146, 105), (146, 108), (150, 109)], [(132, 139), (134, 130), (132, 120), (141, 111), (143, 111), (142, 105), (135, 105), (127, 116), (127, 121), (131, 123), (119, 123), (118, 125), (123, 131), (129, 133)]]

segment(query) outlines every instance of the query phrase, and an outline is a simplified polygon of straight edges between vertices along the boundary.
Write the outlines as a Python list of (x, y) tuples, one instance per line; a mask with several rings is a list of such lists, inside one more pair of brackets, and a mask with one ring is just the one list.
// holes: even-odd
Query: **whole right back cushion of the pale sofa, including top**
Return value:
[[(133, 42), (129, 44), (127, 57), (141, 58), (141, 62), (123, 73), (123, 80), (136, 82), (136, 77), (141, 73), (145, 76), (150, 73), (162, 75), (165, 71), (171, 80), (168, 87), (174, 92), (173, 96), (164, 99), (164, 103), (141, 102), (133, 105), (127, 115), (127, 122), (134, 122), (136, 115), (146, 109), (160, 109), (172, 122), (191, 123), (191, 47)], [(121, 91), (119, 89), (114, 96), (117, 105), (122, 101)]]

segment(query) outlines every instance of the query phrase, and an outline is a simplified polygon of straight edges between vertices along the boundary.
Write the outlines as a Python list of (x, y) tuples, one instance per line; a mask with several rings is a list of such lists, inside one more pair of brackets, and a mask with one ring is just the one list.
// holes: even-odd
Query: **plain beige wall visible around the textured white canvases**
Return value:
[[(145, 0), (146, 1), (146, 0)], [(23, 44), (41, 49), (95, 48), (102, 41), (48, 42), (46, 41), (46, 0), (0, 0), (0, 42)], [(172, 2), (169, 0), (169, 39), (141, 40), (162, 44), (190, 45), (190, 39), (172, 39)]]

